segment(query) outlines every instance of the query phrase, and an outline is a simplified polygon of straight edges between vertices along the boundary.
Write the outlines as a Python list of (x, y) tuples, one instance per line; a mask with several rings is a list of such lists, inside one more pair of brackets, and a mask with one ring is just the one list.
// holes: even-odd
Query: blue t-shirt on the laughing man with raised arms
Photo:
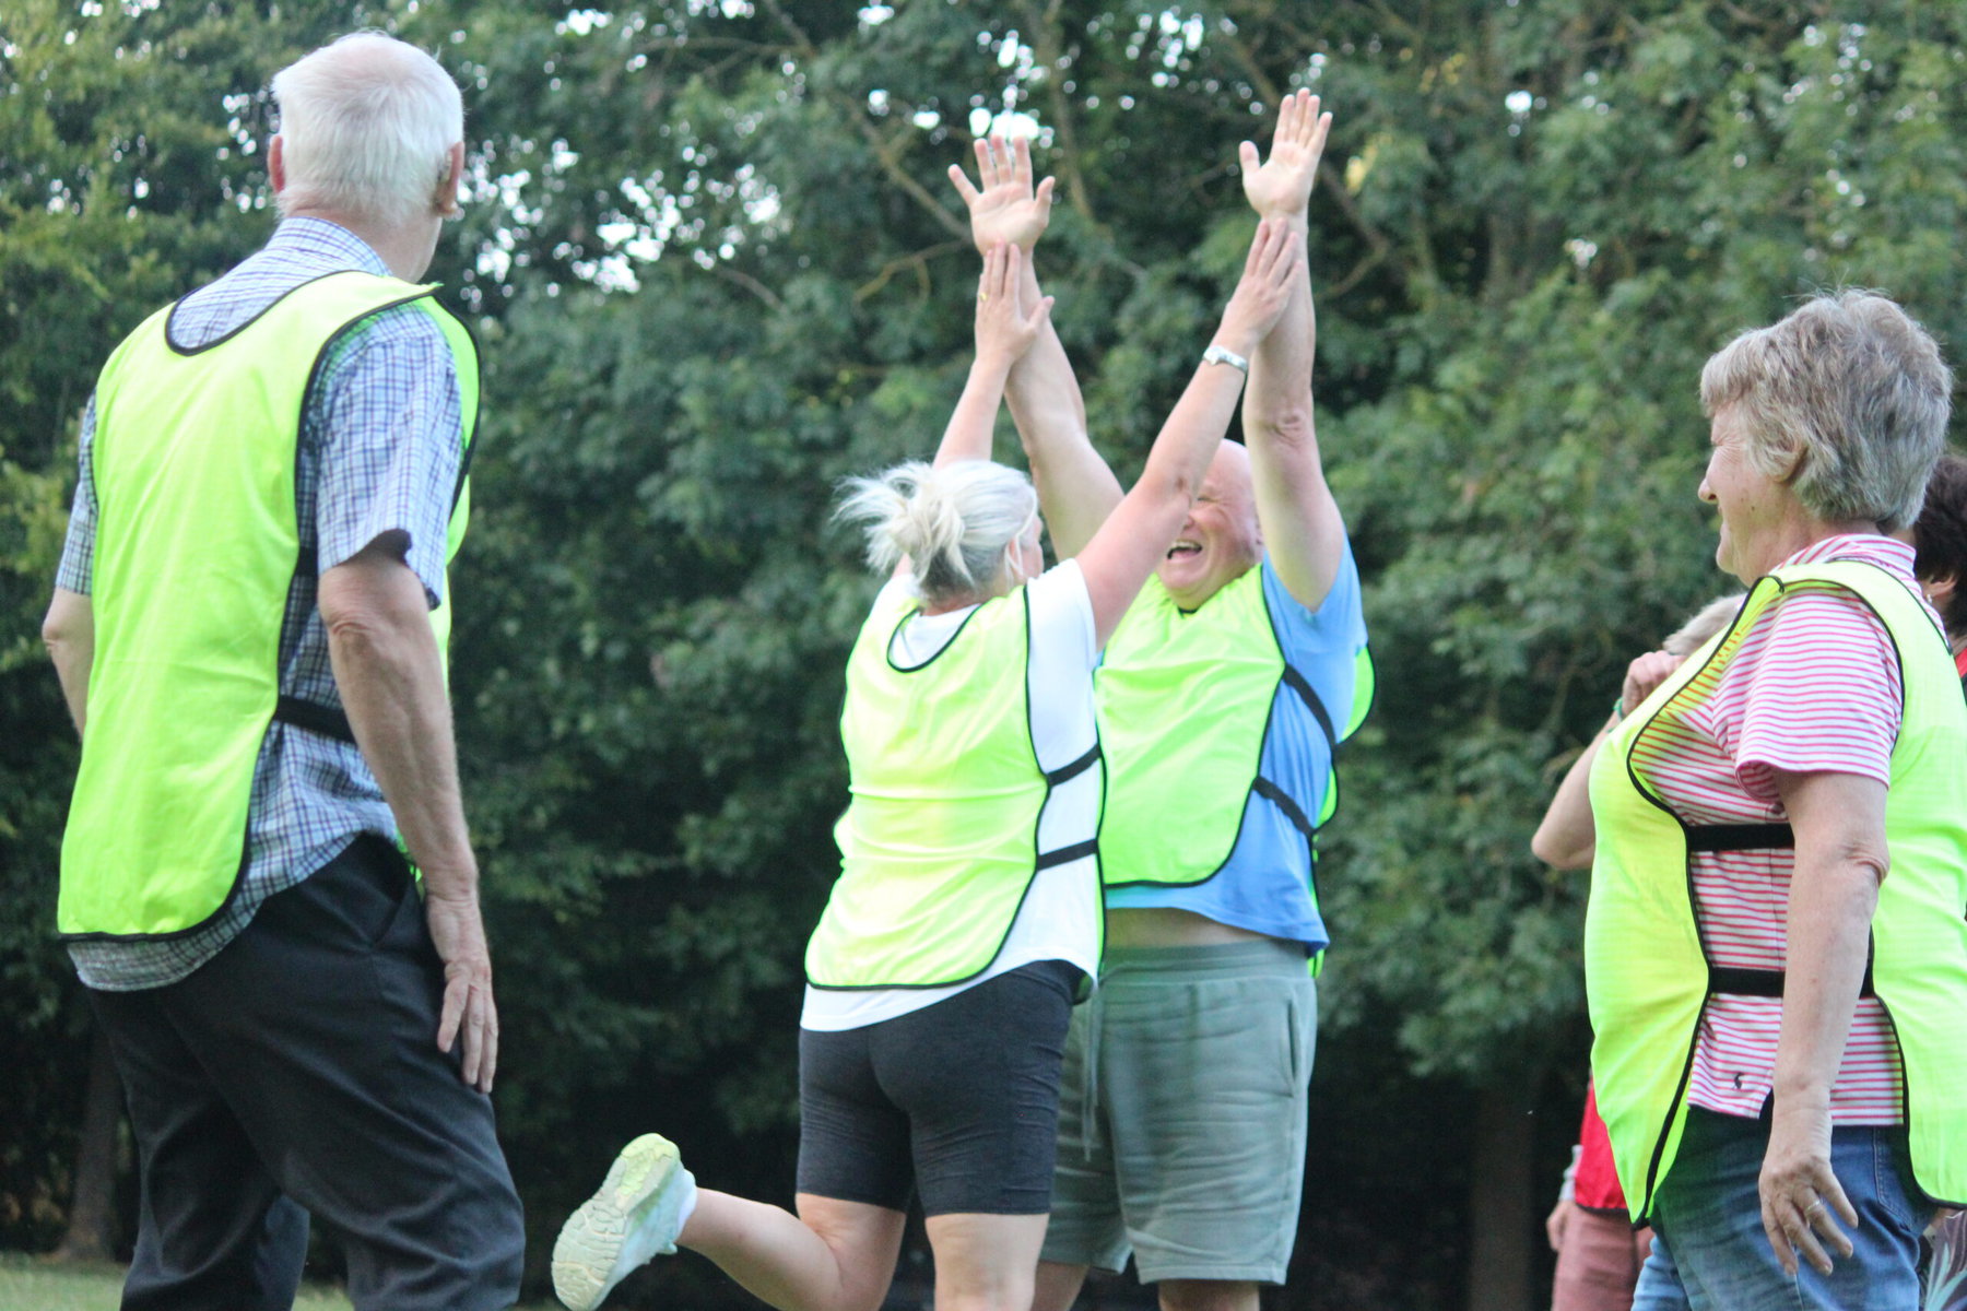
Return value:
[[(1284, 662), (1304, 674), (1318, 702), (1343, 739), (1357, 721), (1353, 694), (1359, 690), (1359, 653), (1365, 651), (1365, 615), (1359, 609), (1359, 568), (1351, 544), (1340, 556), (1332, 590), (1318, 609), (1306, 609), (1277, 580), (1269, 556), (1263, 564), (1263, 599), (1271, 611), (1271, 631)], [(1204, 601), (1206, 603), (1206, 601)], [(1194, 725), (1168, 725), (1196, 731)], [(1326, 731), (1304, 700), (1279, 684), (1271, 704), (1271, 727), (1263, 739), (1261, 772), (1298, 798), (1316, 820), (1332, 780), (1332, 751)], [(1135, 910), (1172, 906), (1208, 916), (1218, 924), (1302, 941), (1306, 951), (1330, 945), (1326, 922), (1312, 900), (1314, 851), (1304, 833), (1271, 800), (1251, 792), (1243, 804), (1243, 827), (1222, 871), (1206, 883), (1131, 884), (1107, 888), (1107, 906)]]

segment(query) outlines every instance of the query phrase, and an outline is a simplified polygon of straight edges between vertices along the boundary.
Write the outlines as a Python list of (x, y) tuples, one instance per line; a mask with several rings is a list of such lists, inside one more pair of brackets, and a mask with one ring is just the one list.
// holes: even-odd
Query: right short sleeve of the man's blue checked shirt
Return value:
[(429, 603), (443, 599), (460, 407), (450, 344), (421, 309), (376, 314), (330, 356), (309, 397), (321, 452), (323, 572), (399, 535)]

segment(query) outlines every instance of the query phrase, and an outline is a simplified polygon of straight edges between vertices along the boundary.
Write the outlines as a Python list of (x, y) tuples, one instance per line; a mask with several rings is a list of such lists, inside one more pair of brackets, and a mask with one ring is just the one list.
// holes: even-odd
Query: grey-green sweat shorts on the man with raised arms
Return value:
[(1282, 1283), (1316, 1040), (1300, 947), (1109, 949), (1066, 1036), (1043, 1260)]

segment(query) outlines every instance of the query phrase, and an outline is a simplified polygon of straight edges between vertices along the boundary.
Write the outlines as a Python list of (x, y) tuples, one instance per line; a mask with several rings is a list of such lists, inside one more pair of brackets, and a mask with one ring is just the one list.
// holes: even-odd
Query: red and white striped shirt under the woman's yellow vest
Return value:
[[(1869, 533), (1825, 539), (1784, 564), (1831, 558), (1878, 564), (1912, 586), (1912, 546)], [(1792, 586), (1757, 615), (1713, 694), (1684, 723), (1642, 733), (1633, 763), (1688, 824), (1782, 822), (1776, 770), (1890, 784), (1902, 713), (1898, 656), (1878, 617), (1831, 584)], [(1713, 965), (1784, 967), (1794, 865), (1788, 849), (1694, 855), (1694, 910)], [(1711, 997), (1694, 1046), (1692, 1103), (1758, 1116), (1780, 1028), (1778, 997)], [(1890, 1020), (1878, 998), (1859, 998), (1831, 1122), (1898, 1124), (1900, 1085)]]

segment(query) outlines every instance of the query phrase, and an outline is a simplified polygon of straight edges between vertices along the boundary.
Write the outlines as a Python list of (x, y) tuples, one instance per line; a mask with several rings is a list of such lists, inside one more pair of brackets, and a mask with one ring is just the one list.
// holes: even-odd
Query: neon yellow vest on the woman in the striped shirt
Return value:
[[(1694, 914), (1694, 851), (1794, 843), (1788, 824), (1690, 826), (1635, 761), (1713, 696), (1755, 617), (1788, 588), (1853, 592), (1884, 623), (1904, 684), (1884, 835), (1890, 873), (1871, 922), (1869, 991), (1898, 1036), (1912, 1171), (1932, 1199), (1967, 1197), (1967, 704), (1945, 639), (1914, 594), (1867, 562), (1776, 570), (1733, 625), (1625, 721), (1591, 767), (1597, 857), (1585, 912), (1591, 1073), (1633, 1221), (1652, 1215), (1688, 1118), (1707, 997), (1780, 997), (1780, 971), (1713, 967)], [(1959, 1205), (1959, 1203), (1949, 1203)]]

